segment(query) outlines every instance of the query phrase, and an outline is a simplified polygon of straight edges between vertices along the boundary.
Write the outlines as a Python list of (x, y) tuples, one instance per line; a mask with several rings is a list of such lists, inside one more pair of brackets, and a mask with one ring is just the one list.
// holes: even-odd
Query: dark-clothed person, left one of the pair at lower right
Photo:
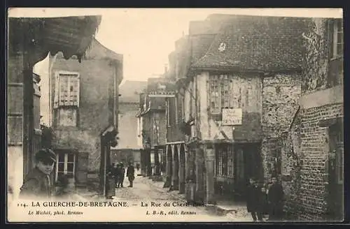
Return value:
[(260, 187), (255, 179), (249, 179), (246, 189), (246, 208), (251, 213), (253, 221), (262, 221), (262, 214), (259, 207), (259, 198), (261, 195)]

